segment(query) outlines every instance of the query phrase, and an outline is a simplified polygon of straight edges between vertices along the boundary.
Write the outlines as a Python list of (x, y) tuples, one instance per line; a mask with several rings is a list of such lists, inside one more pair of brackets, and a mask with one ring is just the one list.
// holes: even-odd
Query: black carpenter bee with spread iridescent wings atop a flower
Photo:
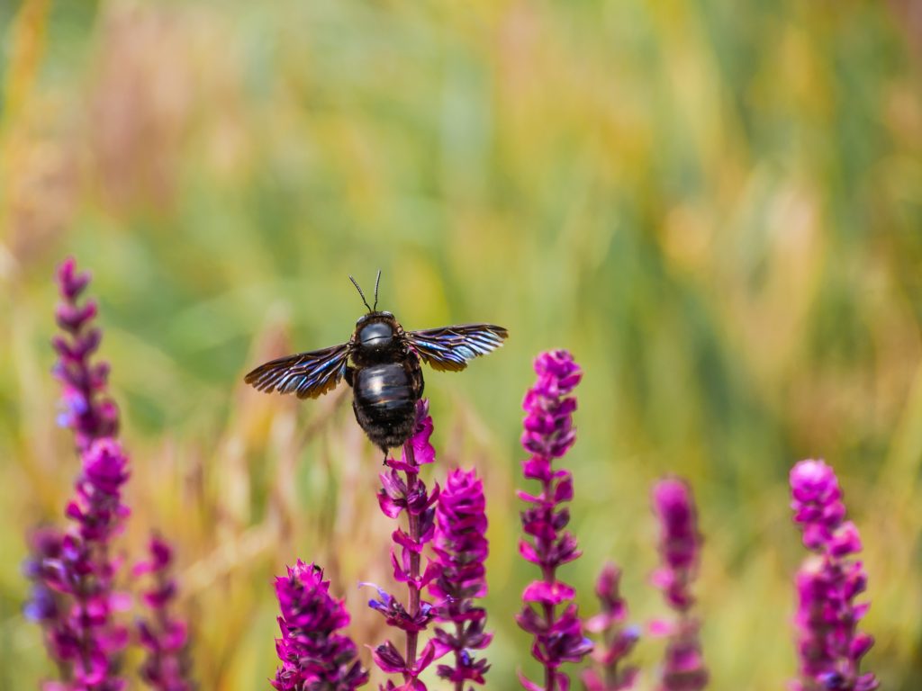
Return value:
[(266, 362), (244, 381), (263, 392), (316, 398), (345, 379), (352, 387), (352, 410), (368, 438), (384, 451), (401, 446), (413, 433), (416, 402), (422, 396), (420, 360), (433, 369), (460, 371), (467, 360), (502, 345), (508, 332), (492, 324), (461, 324), (426, 331), (404, 331), (394, 315), (368, 306), (356, 280), (349, 280), (368, 308), (355, 322), (348, 343)]

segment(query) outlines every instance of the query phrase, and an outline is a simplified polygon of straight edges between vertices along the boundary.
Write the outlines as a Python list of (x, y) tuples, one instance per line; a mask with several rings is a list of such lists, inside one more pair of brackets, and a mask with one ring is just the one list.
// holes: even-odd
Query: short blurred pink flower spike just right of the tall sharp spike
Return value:
[(601, 604), (601, 612), (585, 623), (586, 630), (598, 634), (602, 645), (592, 651), (594, 669), (583, 673), (586, 691), (624, 691), (633, 688), (637, 679), (636, 667), (619, 669), (619, 665), (633, 650), (640, 630), (626, 627), (628, 605), (621, 597), (619, 582), (621, 569), (614, 564), (606, 564), (596, 581), (596, 595)]

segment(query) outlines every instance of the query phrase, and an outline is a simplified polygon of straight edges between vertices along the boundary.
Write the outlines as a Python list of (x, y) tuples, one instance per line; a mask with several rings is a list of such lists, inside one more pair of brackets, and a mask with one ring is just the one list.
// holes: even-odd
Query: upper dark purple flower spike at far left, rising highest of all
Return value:
[(58, 359), (53, 374), (64, 388), (59, 417), (63, 427), (74, 430), (77, 450), (89, 448), (93, 439), (112, 437), (118, 431), (118, 408), (106, 395), (109, 365), (91, 362), (100, 345), (100, 330), (91, 326), (96, 303), (78, 302), (89, 284), (89, 274), (77, 274), (73, 258), (65, 260), (57, 271), (61, 302), (56, 311), (58, 326), (64, 332), (53, 339)]

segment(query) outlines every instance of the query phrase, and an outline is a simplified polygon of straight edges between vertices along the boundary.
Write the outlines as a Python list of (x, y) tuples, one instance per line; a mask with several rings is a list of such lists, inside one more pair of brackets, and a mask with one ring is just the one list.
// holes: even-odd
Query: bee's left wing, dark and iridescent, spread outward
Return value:
[(243, 378), (258, 391), (295, 393), (298, 398), (316, 398), (339, 383), (349, 362), (352, 342), (323, 350), (298, 353), (260, 365)]

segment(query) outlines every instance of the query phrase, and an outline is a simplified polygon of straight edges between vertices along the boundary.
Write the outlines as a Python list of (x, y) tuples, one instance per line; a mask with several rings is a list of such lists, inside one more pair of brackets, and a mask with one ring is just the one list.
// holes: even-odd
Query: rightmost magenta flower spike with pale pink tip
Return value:
[(873, 673), (861, 673), (861, 658), (874, 639), (857, 630), (868, 603), (855, 603), (868, 576), (857, 559), (857, 528), (845, 521), (845, 504), (832, 467), (822, 461), (801, 461), (791, 470), (794, 520), (803, 543), (813, 554), (797, 575), (798, 656), (796, 691), (871, 691)]

